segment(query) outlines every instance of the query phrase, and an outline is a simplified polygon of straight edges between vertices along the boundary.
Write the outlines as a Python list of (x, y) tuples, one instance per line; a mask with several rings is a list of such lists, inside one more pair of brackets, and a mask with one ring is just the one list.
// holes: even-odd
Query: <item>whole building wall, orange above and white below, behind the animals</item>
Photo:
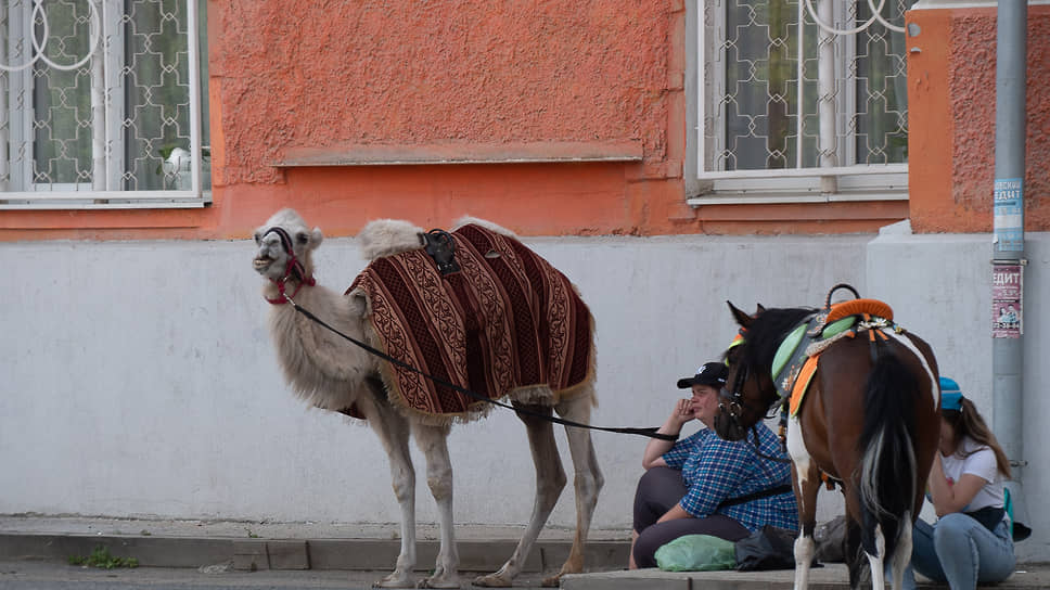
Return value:
[[(13, 278), (0, 307), (0, 513), (397, 520), (374, 436), (304, 409), (281, 383), (252, 246), (228, 241), (285, 205), (334, 238), (320, 279), (340, 286), (363, 266), (345, 236), (374, 217), (447, 227), (472, 214), (529, 236), (598, 319), (596, 423), (662, 423), (674, 380), (735, 332), (725, 300), (819, 305), (843, 281), (894, 305), (990, 411), (990, 236), (973, 233), (991, 218), (988, 10), (909, 16), (922, 28), (909, 53), (919, 235), (875, 238), (905, 205), (684, 206), (682, 2), (535, 2), (535, 14), (437, 4), (213, 0), (214, 205), (0, 213)], [(1050, 164), (1045, 7), (1029, 26), (1038, 171)], [(451, 164), (461, 161), (472, 163)], [(1029, 174), (1029, 231), (1047, 229), (1043, 176)], [(791, 233), (802, 235), (763, 235)], [(1030, 296), (1050, 287), (1047, 244), (1029, 234), (1035, 465), (1050, 448), (1038, 424), (1045, 313)], [(514, 422), (457, 427), (460, 522), (527, 520), (530, 467)], [(596, 440), (609, 478), (596, 526), (626, 528), (644, 441)], [(504, 491), (482, 491), (497, 464)], [(1025, 486), (1037, 506), (1050, 482), (1030, 470)], [(425, 487), (419, 497), (433, 522)], [(567, 498), (555, 526), (572, 524)], [(1019, 550), (1046, 561), (1050, 521), (1033, 512), (1036, 536)]]

